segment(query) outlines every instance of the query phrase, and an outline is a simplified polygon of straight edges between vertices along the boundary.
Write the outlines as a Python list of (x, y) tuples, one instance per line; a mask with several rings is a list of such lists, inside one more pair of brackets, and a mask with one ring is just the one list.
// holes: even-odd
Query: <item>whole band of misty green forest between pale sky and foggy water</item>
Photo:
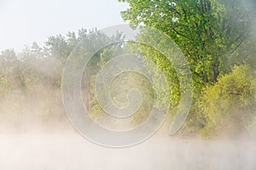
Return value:
[[(239, 0), (119, 0), (129, 8), (121, 12), (132, 28), (152, 26), (171, 37), (186, 57), (193, 78), (193, 104), (179, 135), (215, 138), (256, 134), (256, 35), (253, 5)], [(122, 42), (125, 35), (117, 32), (108, 37), (97, 29), (80, 29), (67, 35), (51, 36), (40, 47), (30, 47), (16, 53), (5, 49), (0, 54), (0, 122), (24, 127), (20, 120), (32, 122), (67, 122), (61, 101), (61, 75), (66, 60), (79, 44), (79, 53), (91, 53), (109, 41), (119, 41), (105, 47), (90, 59), (82, 81), (84, 105), (90, 116), (103, 120), (104, 113), (95, 97), (97, 72), (112, 59), (124, 53), (140, 54), (152, 60), (165, 73), (171, 97), (163, 94), (159, 108), (171, 101), (172, 119), (180, 99), (177, 72), (172, 63), (154, 48)], [(147, 30), (137, 37), (160, 39)], [(81, 45), (82, 44), (82, 45)], [(78, 59), (79, 61), (79, 59)], [(147, 60), (143, 63), (150, 70)], [(136, 126), (147, 118), (152, 109), (154, 87), (145, 77), (128, 72), (117, 77), (113, 86), (113, 101), (125, 105), (129, 88), (139, 88), (143, 104), (129, 120)], [(157, 75), (153, 75), (158, 79)], [(125, 82), (124, 82), (125, 81)], [(137, 83), (134, 83), (137, 82)], [(159, 82), (161, 83), (161, 82)], [(158, 84), (159, 85), (159, 84)], [(121, 91), (123, 90), (123, 91)], [(156, 117), (157, 119), (157, 117)], [(49, 123), (52, 124), (52, 123)], [(51, 125), (53, 126), (53, 125)], [(56, 123), (54, 126), (58, 126)]]

